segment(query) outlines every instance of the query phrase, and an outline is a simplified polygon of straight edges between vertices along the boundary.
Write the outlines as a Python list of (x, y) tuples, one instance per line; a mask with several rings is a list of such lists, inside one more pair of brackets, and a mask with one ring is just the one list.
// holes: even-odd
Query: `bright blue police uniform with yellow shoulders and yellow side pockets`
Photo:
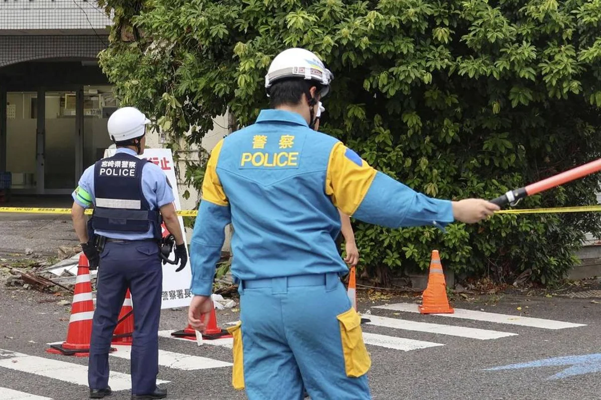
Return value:
[(224, 227), (239, 283), (233, 386), (249, 399), (368, 399), (371, 360), (340, 276), (337, 208), (397, 228), (453, 221), (431, 199), (377, 172), (298, 114), (262, 110), (213, 149), (191, 242), (194, 294), (212, 292)]

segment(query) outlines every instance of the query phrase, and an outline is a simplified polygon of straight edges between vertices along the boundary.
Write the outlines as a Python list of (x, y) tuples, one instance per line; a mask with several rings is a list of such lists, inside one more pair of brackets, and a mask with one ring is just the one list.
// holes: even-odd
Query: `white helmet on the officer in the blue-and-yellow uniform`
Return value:
[(334, 79), (334, 74), (323, 65), (323, 62), (314, 53), (294, 47), (275, 56), (265, 76), (265, 88), (269, 89), (273, 83), (280, 79), (293, 77), (320, 83), (320, 85), (323, 85), (320, 95), (325, 97), (330, 90), (330, 83)]

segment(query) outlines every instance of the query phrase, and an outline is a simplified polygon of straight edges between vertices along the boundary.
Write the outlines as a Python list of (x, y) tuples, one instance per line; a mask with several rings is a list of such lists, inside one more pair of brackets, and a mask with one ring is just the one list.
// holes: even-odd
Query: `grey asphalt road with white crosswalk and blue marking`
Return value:
[[(55, 299), (50, 294), (10, 290), (4, 286), (0, 287), (0, 299), (0, 387), (50, 399), (88, 398), (85, 381), (84, 384), (66, 382), (75, 380), (77, 374), (82, 374), (82, 371), (85, 375), (87, 358), (45, 352), (48, 342), (63, 341), (66, 338), (69, 306), (44, 302)], [(70, 298), (67, 297), (67, 300)], [(367, 345), (373, 360), (373, 366), (368, 373), (373, 398), (601, 399), (601, 304), (591, 303), (591, 300), (593, 299), (512, 296), (502, 297), (498, 303), (486, 302), (486, 299), (454, 302), (456, 309), (513, 315), (514, 317), (505, 318), (508, 323), (374, 308), (383, 304), (416, 302), (409, 297), (359, 302), (359, 311), (364, 317), (379, 323), (362, 326), (371, 342), (380, 340), (380, 345)], [(520, 311), (517, 310), (518, 307), (521, 307)], [(545, 323), (545, 327), (512, 324), (519, 321), (514, 319), (519, 315), (585, 326), (547, 329), (552, 323)], [(396, 321), (391, 323), (390, 320), (376, 317), (394, 318)], [(238, 314), (233, 309), (218, 311), (218, 323), (222, 326), (237, 318)], [(403, 321), (399, 321), (400, 318)], [(415, 322), (435, 325), (421, 325)], [(186, 309), (168, 309), (163, 311), (160, 329), (178, 330), (186, 324)], [(383, 324), (398, 325), (401, 328), (386, 327), (382, 326)], [(514, 335), (503, 336), (507, 333)], [(466, 335), (473, 337), (468, 338)], [(500, 337), (484, 339), (483, 336)], [(406, 343), (403, 342), (404, 339), (413, 339), (416, 342)], [(428, 345), (425, 342), (430, 342), (431, 347), (407, 351), (390, 348)], [(230, 366), (197, 369), (201, 365), (197, 360), (201, 359), (186, 360), (186, 355), (190, 355), (230, 363), (230, 348), (213, 344), (198, 347), (195, 342), (168, 337), (160, 338), (159, 347), (163, 351), (171, 352), (167, 353), (169, 357), (177, 359), (168, 359), (169, 362), (165, 362), (168, 365), (160, 366), (159, 379), (169, 381), (162, 385), (168, 389), (169, 399), (246, 398), (243, 392), (237, 392), (231, 387)], [(41, 357), (41, 360), (16, 357), (14, 352)], [(557, 365), (561, 360), (554, 360), (548, 362), (550, 365), (535, 368), (489, 370), (552, 357), (588, 354), (597, 356), (570, 359), (564, 362), (566, 365)], [(44, 367), (44, 362), (49, 359), (69, 364)], [(10, 360), (10, 363), (7, 360)], [(70, 365), (80, 366), (82, 370), (78, 372), (64, 369)], [(31, 368), (36, 371), (32, 372)], [(129, 360), (111, 357), (111, 368), (112, 371), (129, 374)], [(24, 369), (28, 372), (24, 372)], [(567, 376), (570, 374), (572, 376)], [(53, 378), (49, 378), (48, 375), (52, 375)], [(6, 392), (2, 392), (1, 389), (0, 393), (6, 396)], [(21, 396), (16, 396), (15, 399), (30, 399)], [(129, 399), (129, 396), (128, 387), (115, 392), (111, 399), (124, 400)], [(0, 398), (6, 397), (0, 395)], [(349, 393), (348, 398), (353, 398), (352, 393)]]

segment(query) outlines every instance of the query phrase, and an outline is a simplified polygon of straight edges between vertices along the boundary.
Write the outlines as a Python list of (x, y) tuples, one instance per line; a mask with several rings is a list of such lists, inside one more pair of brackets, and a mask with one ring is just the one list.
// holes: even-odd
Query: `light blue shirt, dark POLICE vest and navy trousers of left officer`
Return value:
[(108, 238), (100, 252), (88, 384), (104, 389), (109, 379), (109, 349), (127, 288), (132, 295), (132, 395), (156, 389), (159, 372), (159, 318), (162, 263), (159, 208), (174, 201), (171, 184), (159, 166), (128, 148), (88, 167), (73, 192), (84, 208), (94, 207), (94, 234)]

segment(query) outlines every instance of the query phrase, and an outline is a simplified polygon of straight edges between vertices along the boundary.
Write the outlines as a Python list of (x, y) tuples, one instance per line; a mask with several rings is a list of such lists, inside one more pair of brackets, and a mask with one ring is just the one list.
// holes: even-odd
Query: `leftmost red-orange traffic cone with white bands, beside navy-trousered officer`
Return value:
[[(92, 317), (94, 302), (92, 300), (92, 284), (90, 282), (90, 264), (84, 254), (79, 256), (75, 291), (67, 329), (67, 340), (62, 344), (51, 344), (46, 349), (50, 354), (63, 356), (88, 356), (90, 353), (90, 336), (92, 334)], [(111, 349), (115, 351), (114, 348)]]

